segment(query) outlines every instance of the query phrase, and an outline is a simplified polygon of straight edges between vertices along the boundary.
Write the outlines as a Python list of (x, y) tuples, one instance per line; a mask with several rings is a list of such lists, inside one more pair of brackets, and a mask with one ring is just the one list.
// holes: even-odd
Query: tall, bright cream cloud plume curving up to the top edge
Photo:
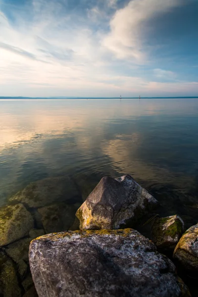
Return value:
[(180, 0), (131, 0), (111, 19), (110, 33), (104, 37), (103, 46), (118, 58), (131, 58), (139, 63), (145, 61), (142, 40), (145, 22), (179, 5)]

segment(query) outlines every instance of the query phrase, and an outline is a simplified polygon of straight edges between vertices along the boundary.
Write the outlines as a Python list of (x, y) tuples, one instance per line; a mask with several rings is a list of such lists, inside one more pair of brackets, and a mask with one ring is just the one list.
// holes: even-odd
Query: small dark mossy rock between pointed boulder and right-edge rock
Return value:
[(178, 215), (156, 218), (152, 225), (151, 238), (156, 247), (174, 250), (184, 232), (184, 222)]

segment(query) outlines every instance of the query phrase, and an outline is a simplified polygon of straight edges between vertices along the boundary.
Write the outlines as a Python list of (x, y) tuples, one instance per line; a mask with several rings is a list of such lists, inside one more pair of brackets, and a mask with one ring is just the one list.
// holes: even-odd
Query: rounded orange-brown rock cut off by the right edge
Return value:
[(185, 270), (198, 276), (198, 224), (189, 228), (175, 247), (173, 257)]

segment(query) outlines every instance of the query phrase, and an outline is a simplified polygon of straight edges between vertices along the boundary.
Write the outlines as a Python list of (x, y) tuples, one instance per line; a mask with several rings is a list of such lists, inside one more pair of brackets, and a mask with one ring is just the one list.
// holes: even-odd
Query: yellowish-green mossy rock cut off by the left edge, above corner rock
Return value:
[(23, 204), (0, 208), (0, 247), (26, 236), (34, 221)]

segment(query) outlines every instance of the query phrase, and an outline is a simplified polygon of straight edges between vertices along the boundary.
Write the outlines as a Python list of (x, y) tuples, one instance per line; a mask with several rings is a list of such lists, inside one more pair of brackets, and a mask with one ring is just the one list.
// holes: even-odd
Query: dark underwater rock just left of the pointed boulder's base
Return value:
[(56, 203), (38, 209), (46, 233), (68, 230), (75, 220), (75, 213), (79, 203)]

